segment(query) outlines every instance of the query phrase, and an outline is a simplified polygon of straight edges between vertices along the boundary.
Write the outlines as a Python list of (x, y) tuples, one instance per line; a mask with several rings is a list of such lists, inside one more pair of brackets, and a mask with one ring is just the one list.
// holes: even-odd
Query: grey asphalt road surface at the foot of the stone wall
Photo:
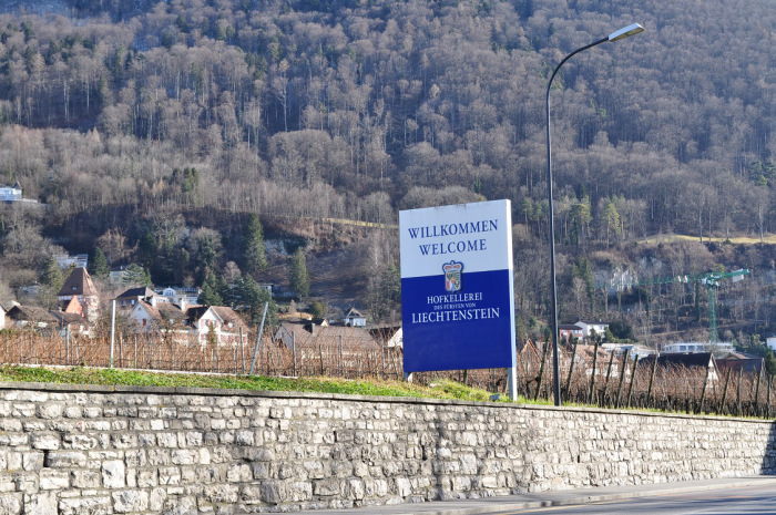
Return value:
[(620, 501), (549, 506), (534, 509), (491, 512), (491, 515), (776, 515), (776, 490), (760, 486), (718, 488), (706, 492), (660, 494)]

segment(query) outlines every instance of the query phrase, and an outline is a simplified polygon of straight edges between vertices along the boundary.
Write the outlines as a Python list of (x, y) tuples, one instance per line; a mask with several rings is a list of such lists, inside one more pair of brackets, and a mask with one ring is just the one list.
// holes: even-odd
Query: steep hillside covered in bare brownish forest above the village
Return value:
[(395, 223), (482, 197), (540, 241), (548, 76), (632, 22), (553, 87), (560, 243), (775, 229), (772, 0), (4, 3), (1, 181), (130, 249), (170, 213)]

